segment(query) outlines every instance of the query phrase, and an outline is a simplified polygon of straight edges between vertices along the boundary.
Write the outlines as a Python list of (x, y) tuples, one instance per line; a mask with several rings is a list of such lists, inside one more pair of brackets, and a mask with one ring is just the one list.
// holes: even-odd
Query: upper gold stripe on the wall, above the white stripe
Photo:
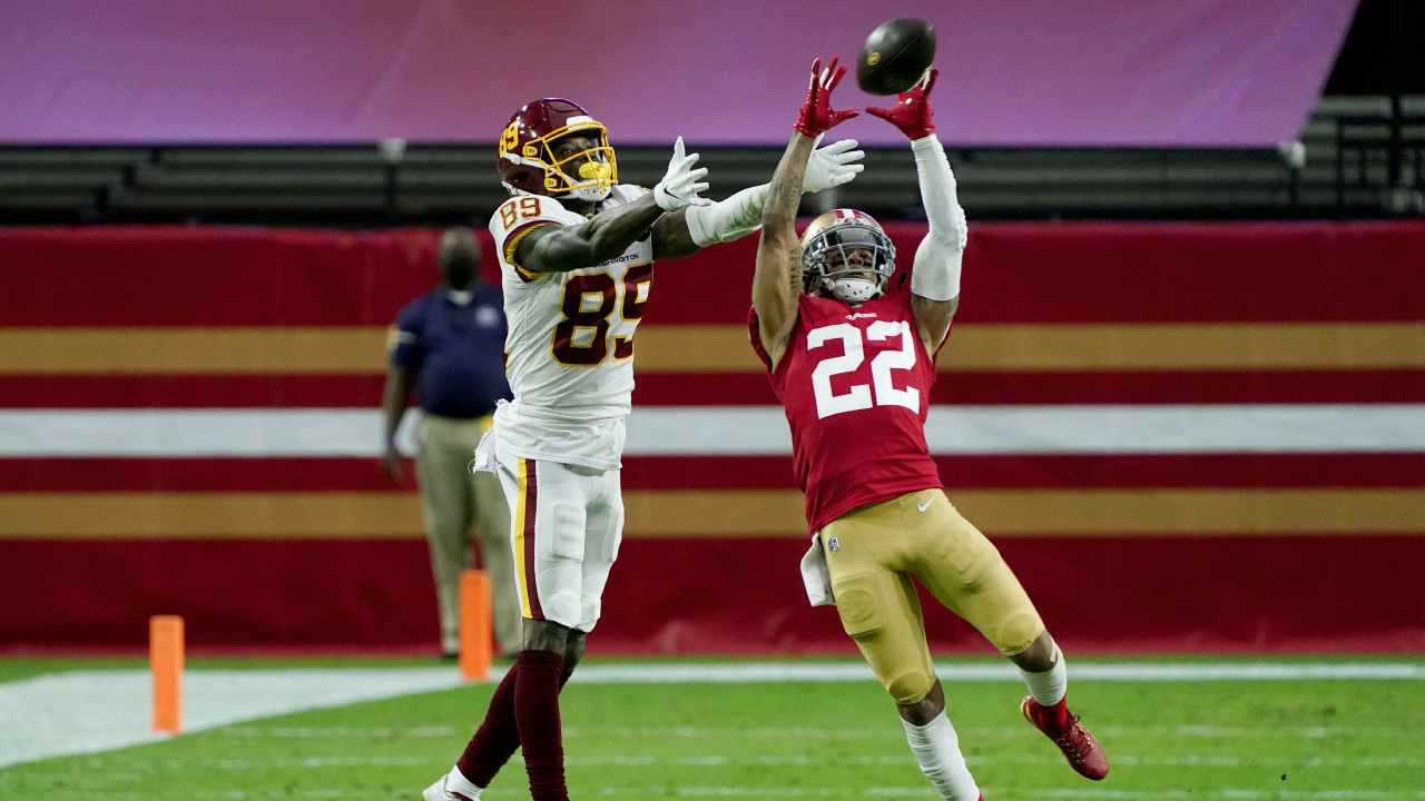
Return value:
[[(0, 373), (379, 373), (385, 328), (10, 328)], [(740, 325), (643, 325), (640, 372), (760, 372)], [(1425, 324), (958, 325), (940, 371), (1419, 369)]]

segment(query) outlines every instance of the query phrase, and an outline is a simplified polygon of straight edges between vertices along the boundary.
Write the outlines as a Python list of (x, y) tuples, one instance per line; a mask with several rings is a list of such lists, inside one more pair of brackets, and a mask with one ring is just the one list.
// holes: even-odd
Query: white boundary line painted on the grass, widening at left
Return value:
[[(492, 681), (503, 677), (492, 670)], [(943, 664), (946, 681), (1020, 681), (1010, 664)], [(1076, 681), (1425, 680), (1415, 663), (1073, 664)], [(590, 664), (580, 684), (874, 681), (864, 663)], [(460, 687), (455, 667), (190, 670), (184, 731)], [(76, 670), (0, 684), (0, 767), (162, 740), (150, 731), (147, 670)]]

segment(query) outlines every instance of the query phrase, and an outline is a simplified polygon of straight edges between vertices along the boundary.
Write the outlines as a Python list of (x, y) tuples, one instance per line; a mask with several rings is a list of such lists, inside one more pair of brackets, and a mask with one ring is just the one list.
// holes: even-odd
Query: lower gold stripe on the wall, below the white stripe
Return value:
[[(965, 490), (988, 534), (1425, 534), (1421, 489)], [(795, 490), (631, 490), (630, 537), (805, 536)], [(0, 493), (0, 539), (420, 537), (410, 493)]]

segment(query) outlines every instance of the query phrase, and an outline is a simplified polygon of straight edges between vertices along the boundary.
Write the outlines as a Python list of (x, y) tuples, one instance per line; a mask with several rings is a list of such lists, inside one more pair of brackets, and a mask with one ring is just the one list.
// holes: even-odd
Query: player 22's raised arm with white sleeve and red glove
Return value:
[(901, 128), (911, 140), (915, 168), (921, 180), (921, 201), (929, 231), (915, 252), (911, 274), (911, 311), (926, 352), (935, 355), (950, 332), (950, 321), (960, 301), (960, 258), (965, 251), (965, 210), (955, 191), (955, 175), (945, 148), (935, 138), (931, 121), (931, 90), (939, 70), (921, 84), (901, 93), (893, 108), (866, 108), (874, 117)]

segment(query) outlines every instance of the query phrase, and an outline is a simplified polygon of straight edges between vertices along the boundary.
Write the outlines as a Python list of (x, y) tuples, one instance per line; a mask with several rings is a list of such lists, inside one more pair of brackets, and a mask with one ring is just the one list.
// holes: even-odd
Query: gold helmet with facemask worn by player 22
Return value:
[(802, 269), (809, 294), (864, 304), (885, 292), (895, 272), (895, 245), (884, 231), (861, 219), (838, 221), (807, 241)]

